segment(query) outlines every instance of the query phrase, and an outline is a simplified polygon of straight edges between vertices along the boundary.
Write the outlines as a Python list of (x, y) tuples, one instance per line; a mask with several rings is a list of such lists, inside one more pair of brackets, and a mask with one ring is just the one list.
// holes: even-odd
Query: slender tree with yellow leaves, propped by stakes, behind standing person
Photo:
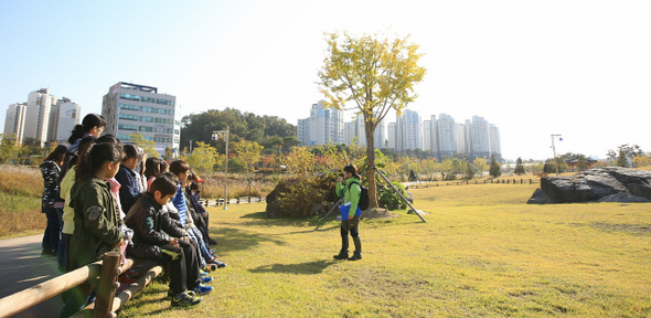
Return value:
[[(353, 38), (343, 33), (327, 33), (327, 56), (319, 72), (320, 92), (326, 105), (343, 109), (346, 103), (355, 105), (357, 116), (364, 116), (366, 132), (366, 165), (375, 165), (373, 135), (388, 110), (402, 114), (414, 102), (414, 84), (423, 81), (425, 68), (418, 65), (423, 54), (418, 45), (405, 39), (377, 39), (378, 35)], [(370, 206), (377, 208), (375, 170), (369, 169)]]

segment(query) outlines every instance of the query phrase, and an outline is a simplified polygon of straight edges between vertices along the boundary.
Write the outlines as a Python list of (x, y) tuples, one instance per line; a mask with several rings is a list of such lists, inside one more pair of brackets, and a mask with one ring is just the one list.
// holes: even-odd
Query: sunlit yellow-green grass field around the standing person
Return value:
[(651, 204), (527, 205), (537, 186), (413, 190), (361, 223), (363, 259), (335, 262), (339, 223), (267, 220), (264, 204), (211, 208), (228, 267), (192, 309), (154, 282), (124, 317), (649, 317)]

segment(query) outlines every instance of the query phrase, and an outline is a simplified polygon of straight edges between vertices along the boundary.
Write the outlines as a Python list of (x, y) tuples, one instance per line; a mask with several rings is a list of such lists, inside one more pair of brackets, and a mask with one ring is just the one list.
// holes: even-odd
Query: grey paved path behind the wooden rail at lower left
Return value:
[[(56, 258), (41, 257), (42, 239), (43, 234), (0, 240), (0, 298), (58, 276)], [(62, 307), (56, 296), (12, 317), (54, 318)]]

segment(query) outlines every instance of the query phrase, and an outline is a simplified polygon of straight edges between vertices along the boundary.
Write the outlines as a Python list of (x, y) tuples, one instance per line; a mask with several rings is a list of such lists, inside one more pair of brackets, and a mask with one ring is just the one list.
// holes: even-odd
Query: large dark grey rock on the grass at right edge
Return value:
[(616, 193), (651, 200), (651, 171), (619, 167), (598, 168), (572, 177), (542, 178), (541, 189), (549, 203), (597, 201)]

